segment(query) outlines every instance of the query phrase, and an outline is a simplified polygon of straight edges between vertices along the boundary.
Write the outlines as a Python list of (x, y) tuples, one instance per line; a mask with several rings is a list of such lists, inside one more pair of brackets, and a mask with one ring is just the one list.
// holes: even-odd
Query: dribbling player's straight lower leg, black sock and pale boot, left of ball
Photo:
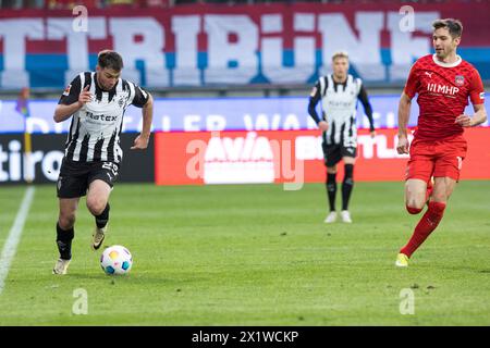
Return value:
[(60, 214), (57, 223), (57, 245), (60, 251), (52, 270), (53, 274), (66, 274), (72, 259), (72, 240), (75, 234), (75, 216), (79, 198), (60, 198)]

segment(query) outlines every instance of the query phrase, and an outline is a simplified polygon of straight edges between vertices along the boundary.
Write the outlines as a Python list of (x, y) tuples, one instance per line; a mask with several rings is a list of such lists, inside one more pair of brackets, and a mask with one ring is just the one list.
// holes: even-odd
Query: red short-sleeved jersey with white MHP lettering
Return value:
[(478, 71), (457, 55), (452, 64), (436, 61), (436, 54), (418, 59), (412, 66), (405, 94), (418, 94), (420, 108), (415, 138), (440, 140), (463, 133), (454, 120), (464, 113), (468, 97), (473, 104), (483, 103), (485, 89)]

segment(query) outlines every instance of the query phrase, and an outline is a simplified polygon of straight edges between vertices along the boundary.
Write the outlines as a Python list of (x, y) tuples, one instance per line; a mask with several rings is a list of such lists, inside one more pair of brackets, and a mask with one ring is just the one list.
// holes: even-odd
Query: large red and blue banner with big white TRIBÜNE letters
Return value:
[(488, 1), (2, 10), (0, 88), (63, 88), (108, 48), (124, 58), (124, 78), (152, 88), (313, 84), (338, 50), (356, 76), (391, 84), (431, 52), (440, 17), (463, 22), (458, 52), (490, 79), (488, 13)]

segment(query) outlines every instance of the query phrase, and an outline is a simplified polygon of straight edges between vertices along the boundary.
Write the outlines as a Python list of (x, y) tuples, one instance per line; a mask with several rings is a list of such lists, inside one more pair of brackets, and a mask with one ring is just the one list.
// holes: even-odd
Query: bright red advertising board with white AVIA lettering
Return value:
[[(465, 130), (462, 179), (490, 179), (490, 128)], [(355, 181), (404, 181), (408, 156), (396, 153), (396, 130), (358, 133)], [(319, 130), (196, 132), (155, 135), (157, 185), (323, 183)], [(343, 176), (343, 165), (339, 176)]]

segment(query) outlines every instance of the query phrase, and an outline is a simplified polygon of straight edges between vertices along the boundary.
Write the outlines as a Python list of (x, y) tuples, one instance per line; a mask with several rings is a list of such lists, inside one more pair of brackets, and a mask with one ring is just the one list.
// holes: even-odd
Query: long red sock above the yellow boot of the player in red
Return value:
[(414, 234), (407, 245), (400, 252), (408, 258), (417, 250), (417, 248), (427, 239), (427, 237), (436, 229), (444, 214), (445, 203), (429, 202), (429, 209), (415, 227)]

